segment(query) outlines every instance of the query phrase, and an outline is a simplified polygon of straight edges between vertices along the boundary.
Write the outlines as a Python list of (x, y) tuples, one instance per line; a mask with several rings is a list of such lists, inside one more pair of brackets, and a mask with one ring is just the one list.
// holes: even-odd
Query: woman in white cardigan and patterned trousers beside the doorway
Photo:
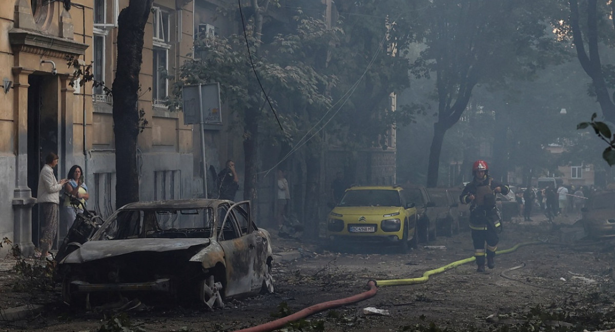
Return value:
[(39, 175), (39, 188), (36, 202), (45, 216), (45, 231), (41, 239), (41, 258), (47, 258), (58, 230), (58, 205), (60, 205), (60, 190), (66, 179), (56, 180), (54, 167), (58, 165), (58, 155), (50, 152), (45, 158), (45, 165)]

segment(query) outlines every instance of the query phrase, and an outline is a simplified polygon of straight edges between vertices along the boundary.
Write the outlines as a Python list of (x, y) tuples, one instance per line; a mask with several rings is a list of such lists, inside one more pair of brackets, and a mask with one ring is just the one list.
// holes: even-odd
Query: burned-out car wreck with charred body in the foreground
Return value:
[(67, 246), (58, 275), (71, 306), (138, 298), (211, 308), (273, 291), (269, 232), (256, 227), (248, 201), (135, 202)]

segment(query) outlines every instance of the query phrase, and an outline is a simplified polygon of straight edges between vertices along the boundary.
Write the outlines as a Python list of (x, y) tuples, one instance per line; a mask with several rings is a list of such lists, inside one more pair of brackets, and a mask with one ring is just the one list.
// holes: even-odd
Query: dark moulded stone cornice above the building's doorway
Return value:
[(89, 47), (81, 42), (18, 28), (9, 31), (9, 42), (15, 53), (32, 53), (55, 58), (85, 55), (85, 50)]

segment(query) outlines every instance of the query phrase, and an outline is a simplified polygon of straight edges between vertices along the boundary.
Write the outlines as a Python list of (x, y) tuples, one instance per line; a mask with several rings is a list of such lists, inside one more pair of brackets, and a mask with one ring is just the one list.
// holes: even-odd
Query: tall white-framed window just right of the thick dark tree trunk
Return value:
[(153, 68), (152, 68), (152, 98), (154, 106), (164, 107), (167, 98), (169, 71), (170, 28), (169, 12), (154, 6), (153, 19)]

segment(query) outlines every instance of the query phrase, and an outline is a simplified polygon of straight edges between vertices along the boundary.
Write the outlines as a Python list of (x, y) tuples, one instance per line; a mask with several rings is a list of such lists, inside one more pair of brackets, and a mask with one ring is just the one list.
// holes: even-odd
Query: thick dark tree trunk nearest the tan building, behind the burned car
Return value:
[(130, 0), (117, 18), (117, 67), (113, 81), (116, 144), (116, 207), (139, 200), (137, 108), (143, 36), (153, 0)]

